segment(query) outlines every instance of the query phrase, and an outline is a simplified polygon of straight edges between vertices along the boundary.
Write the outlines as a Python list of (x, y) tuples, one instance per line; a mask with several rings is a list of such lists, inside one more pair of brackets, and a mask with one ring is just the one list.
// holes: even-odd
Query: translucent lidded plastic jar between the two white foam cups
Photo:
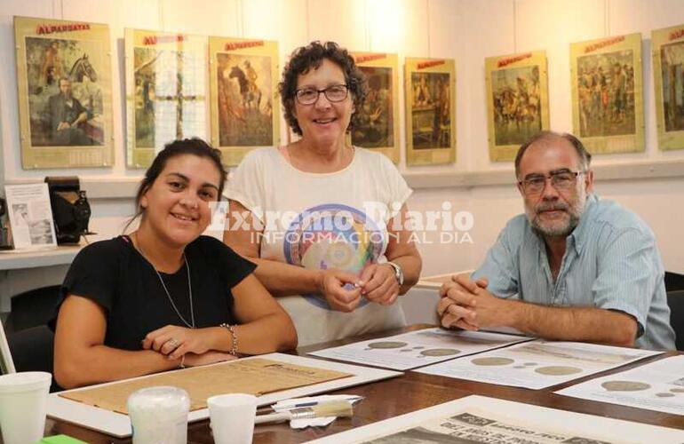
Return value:
[(133, 444), (186, 444), (190, 397), (178, 387), (160, 385), (132, 392), (126, 401)]

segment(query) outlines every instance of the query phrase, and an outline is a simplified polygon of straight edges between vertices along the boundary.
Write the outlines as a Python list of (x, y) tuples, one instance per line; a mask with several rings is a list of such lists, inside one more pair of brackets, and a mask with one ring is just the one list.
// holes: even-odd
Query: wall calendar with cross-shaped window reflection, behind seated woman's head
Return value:
[(147, 168), (175, 139), (207, 139), (206, 36), (125, 29), (126, 164)]

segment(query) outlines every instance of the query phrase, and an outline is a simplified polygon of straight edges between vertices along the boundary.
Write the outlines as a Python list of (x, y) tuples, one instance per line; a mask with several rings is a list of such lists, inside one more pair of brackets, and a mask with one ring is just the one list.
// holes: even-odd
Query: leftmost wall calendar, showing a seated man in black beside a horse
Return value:
[(14, 17), (21, 165), (114, 163), (109, 27)]

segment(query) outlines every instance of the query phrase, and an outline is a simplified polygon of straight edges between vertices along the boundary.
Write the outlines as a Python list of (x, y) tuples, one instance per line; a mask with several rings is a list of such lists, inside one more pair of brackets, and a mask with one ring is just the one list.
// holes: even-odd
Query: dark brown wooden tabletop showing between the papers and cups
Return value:
[[(385, 337), (410, 330), (424, 329), (427, 327), (432, 326), (426, 324), (414, 325), (401, 330), (386, 331), (381, 334), (366, 335), (363, 337), (354, 337), (351, 339), (334, 341), (326, 344), (312, 345), (298, 349), (297, 353), (300, 355), (305, 355), (307, 352), (328, 348), (330, 346), (349, 344), (360, 340), (371, 339), (373, 337)], [(554, 385), (553, 387), (543, 390), (529, 390), (506, 387), (504, 385), (484, 384), (407, 371), (402, 377), (394, 377), (385, 381), (359, 385), (339, 391), (340, 393), (359, 394), (365, 397), (365, 400), (362, 400), (362, 402), (354, 406), (354, 417), (352, 418), (337, 419), (335, 422), (325, 428), (309, 427), (301, 431), (291, 430), (287, 424), (258, 425), (254, 429), (254, 442), (294, 443), (306, 440), (314, 440), (332, 433), (343, 432), (353, 427), (359, 427), (361, 425), (374, 423), (393, 416), (409, 413), (411, 411), (418, 410), (419, 408), (426, 408), (449, 400), (456, 400), (470, 394), (480, 394), (483, 396), (500, 398), (504, 400), (515, 400), (548, 408), (560, 408), (563, 410), (597, 416), (608, 416), (616, 419), (634, 421), (637, 423), (684, 429), (684, 416), (671, 415), (651, 410), (642, 410), (640, 408), (622, 407), (592, 400), (580, 400), (553, 393), (562, 387), (575, 385), (581, 381), (585, 381), (593, 377), (599, 377), (608, 375), (609, 373), (623, 371), (625, 369), (641, 365), (645, 362), (656, 361), (665, 356), (671, 356), (673, 354), (676, 354), (676, 352), (651, 357), (646, 360), (620, 367), (619, 369), (608, 370), (604, 373), (600, 373), (599, 375), (577, 379), (564, 385)], [(116, 440), (100, 432), (93, 432), (74, 424), (67, 424), (61, 421), (54, 421), (52, 419), (48, 419), (45, 432), (46, 435), (65, 433), (79, 440), (84, 440), (95, 444), (131, 442), (130, 439)], [(189, 424), (187, 440), (189, 443), (193, 444), (213, 443), (211, 432), (209, 430), (209, 421), (204, 420)]]

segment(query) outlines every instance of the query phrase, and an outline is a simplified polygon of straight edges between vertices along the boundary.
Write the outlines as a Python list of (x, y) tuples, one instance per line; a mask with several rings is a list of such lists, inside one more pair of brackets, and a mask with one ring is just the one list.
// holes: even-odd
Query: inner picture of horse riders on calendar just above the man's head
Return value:
[(539, 67), (491, 73), (496, 145), (520, 145), (542, 129)]

